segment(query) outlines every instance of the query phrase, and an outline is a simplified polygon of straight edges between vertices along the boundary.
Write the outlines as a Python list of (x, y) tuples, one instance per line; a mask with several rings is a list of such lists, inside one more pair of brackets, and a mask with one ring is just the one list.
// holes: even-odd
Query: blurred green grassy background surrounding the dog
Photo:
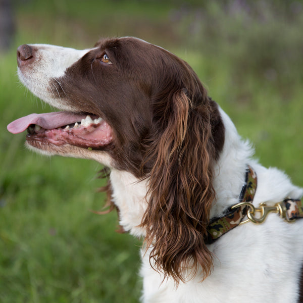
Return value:
[(187, 61), (256, 148), (303, 186), (303, 2), (0, 0), (0, 301), (138, 302), (140, 241), (103, 208), (100, 165), (46, 158), (6, 125), (52, 111), (16, 75), (24, 43), (137, 36)]

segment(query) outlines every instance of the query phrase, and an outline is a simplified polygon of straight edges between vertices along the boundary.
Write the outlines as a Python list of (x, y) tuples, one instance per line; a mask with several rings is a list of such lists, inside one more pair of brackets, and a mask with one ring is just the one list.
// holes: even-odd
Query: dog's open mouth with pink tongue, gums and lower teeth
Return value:
[(71, 144), (83, 148), (102, 149), (112, 143), (112, 129), (100, 117), (87, 114), (54, 112), (31, 114), (19, 118), (8, 125), (8, 130), (21, 133), (27, 129), (26, 140)]

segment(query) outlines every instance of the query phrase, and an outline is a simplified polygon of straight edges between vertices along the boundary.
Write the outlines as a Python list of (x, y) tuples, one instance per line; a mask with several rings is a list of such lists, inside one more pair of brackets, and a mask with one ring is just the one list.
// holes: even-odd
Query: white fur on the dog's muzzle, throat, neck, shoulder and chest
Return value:
[[(61, 109), (66, 106), (52, 94), (46, 93), (47, 77), (58, 77), (78, 60), (85, 51), (40, 45), (41, 58), (33, 71), (19, 72), (22, 82), (47, 103)], [(56, 60), (55, 60), (56, 59)], [(68, 108), (68, 110), (72, 110)], [(274, 205), (286, 197), (300, 198), (303, 190), (291, 184), (289, 178), (275, 168), (266, 169), (252, 160), (253, 150), (238, 135), (229, 117), (220, 109), (225, 125), (225, 144), (215, 167), (216, 201), (211, 217), (220, 216), (238, 202), (245, 178), (246, 165), (257, 172), (258, 188), (254, 204)], [(68, 156), (91, 158), (112, 166), (109, 156), (74, 153)], [(92, 156), (93, 155), (93, 156)], [(144, 236), (139, 227), (147, 207), (145, 194), (148, 180), (139, 181), (132, 174), (112, 169), (113, 199), (120, 209), (120, 224), (135, 236)], [(170, 278), (154, 271), (148, 252), (141, 254), (144, 303), (291, 303), (298, 298), (298, 279), (303, 261), (303, 219), (289, 224), (271, 214), (260, 226), (247, 223), (223, 235), (209, 249), (214, 254), (214, 270), (201, 282), (201, 276), (176, 287)]]

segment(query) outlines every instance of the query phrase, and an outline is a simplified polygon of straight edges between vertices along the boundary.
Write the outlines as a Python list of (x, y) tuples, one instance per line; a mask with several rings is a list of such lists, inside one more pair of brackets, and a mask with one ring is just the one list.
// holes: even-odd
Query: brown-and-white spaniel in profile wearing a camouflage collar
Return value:
[(144, 238), (142, 302), (302, 302), (303, 189), (251, 158), (186, 62), (133, 37), (81, 51), (24, 44), (17, 62), (60, 111), (8, 130), (27, 129), (44, 155), (109, 168), (119, 223)]

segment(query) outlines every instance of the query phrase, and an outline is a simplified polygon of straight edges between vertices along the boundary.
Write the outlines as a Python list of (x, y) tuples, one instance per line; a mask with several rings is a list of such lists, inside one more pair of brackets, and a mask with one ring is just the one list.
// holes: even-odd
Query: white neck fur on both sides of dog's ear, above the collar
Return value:
[[(245, 182), (246, 164), (252, 155), (249, 143), (241, 139), (230, 118), (221, 109), (220, 113), (226, 130), (225, 143), (214, 168), (216, 199), (211, 218), (221, 216), (228, 207), (238, 203)], [(148, 180), (138, 180), (131, 173), (115, 169), (111, 171), (110, 179), (113, 201), (119, 208), (120, 225), (135, 236), (144, 236), (139, 225), (147, 206)]]

